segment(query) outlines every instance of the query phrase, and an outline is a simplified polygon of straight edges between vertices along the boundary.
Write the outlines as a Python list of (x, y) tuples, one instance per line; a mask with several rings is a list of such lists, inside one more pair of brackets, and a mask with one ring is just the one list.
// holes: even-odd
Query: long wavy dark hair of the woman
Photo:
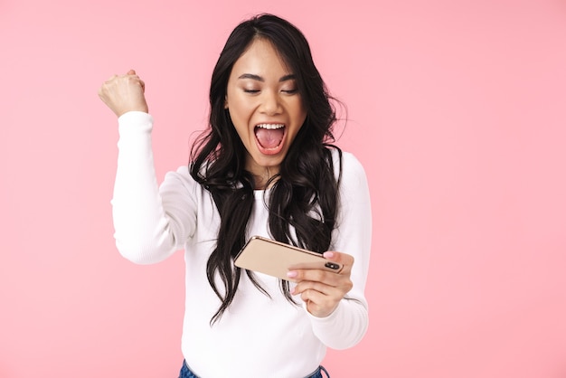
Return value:
[[(308, 250), (328, 250), (337, 216), (338, 181), (330, 148), (335, 108), (320, 73), (316, 70), (307, 39), (297, 27), (272, 14), (259, 14), (239, 24), (231, 33), (212, 72), (210, 125), (193, 145), (190, 171), (194, 180), (211, 194), (221, 217), (216, 249), (208, 260), (208, 281), (222, 300), (214, 323), (230, 306), (241, 278), (233, 258), (246, 241), (246, 229), (254, 203), (254, 178), (245, 170), (246, 150), (224, 109), (228, 80), (234, 63), (256, 39), (273, 44), (296, 76), (307, 118), (300, 128), (279, 173), (272, 177), (269, 199), (269, 232)], [(340, 168), (341, 169), (341, 168)], [(264, 294), (253, 274), (250, 280)], [(223, 289), (216, 287), (215, 275)], [(293, 302), (288, 282), (281, 290)]]

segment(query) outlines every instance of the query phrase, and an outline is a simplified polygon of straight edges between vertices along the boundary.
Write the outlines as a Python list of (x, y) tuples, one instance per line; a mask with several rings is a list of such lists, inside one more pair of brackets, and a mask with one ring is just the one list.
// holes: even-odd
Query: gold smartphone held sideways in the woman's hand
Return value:
[(240, 250), (234, 264), (243, 269), (258, 271), (279, 279), (288, 279), (292, 269), (324, 269), (339, 273), (342, 264), (326, 260), (320, 253), (261, 236), (252, 236)]

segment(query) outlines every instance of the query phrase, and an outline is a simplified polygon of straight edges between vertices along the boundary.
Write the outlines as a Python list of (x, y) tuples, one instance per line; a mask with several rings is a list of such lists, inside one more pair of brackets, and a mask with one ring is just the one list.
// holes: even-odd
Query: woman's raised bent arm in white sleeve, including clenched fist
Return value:
[(118, 116), (118, 168), (111, 202), (116, 245), (127, 260), (149, 264), (182, 249), (187, 225), (193, 222), (187, 215), (190, 204), (178, 205), (179, 198), (191, 198), (184, 195), (182, 184), (175, 185), (175, 174), (168, 175), (174, 184), (160, 192), (151, 145), (153, 118), (147, 114), (144, 91), (143, 80), (130, 70), (106, 81), (99, 97)]

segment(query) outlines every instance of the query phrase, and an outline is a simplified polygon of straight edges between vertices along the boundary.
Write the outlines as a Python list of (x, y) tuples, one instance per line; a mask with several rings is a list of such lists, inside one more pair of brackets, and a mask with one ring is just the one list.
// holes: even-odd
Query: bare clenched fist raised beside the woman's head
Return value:
[(127, 111), (147, 113), (146, 84), (139, 79), (136, 71), (127, 71), (125, 75), (114, 75), (104, 82), (99, 89), (99, 98), (118, 117)]

